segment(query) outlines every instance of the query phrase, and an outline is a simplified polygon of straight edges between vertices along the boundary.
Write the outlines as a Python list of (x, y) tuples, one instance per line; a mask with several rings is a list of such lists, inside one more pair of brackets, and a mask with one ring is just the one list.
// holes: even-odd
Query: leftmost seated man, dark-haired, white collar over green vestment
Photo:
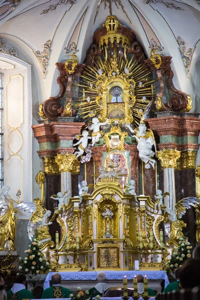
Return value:
[(31, 292), (25, 289), (25, 281), (26, 276), (24, 274), (16, 276), (16, 283), (7, 292), (7, 300), (34, 299)]

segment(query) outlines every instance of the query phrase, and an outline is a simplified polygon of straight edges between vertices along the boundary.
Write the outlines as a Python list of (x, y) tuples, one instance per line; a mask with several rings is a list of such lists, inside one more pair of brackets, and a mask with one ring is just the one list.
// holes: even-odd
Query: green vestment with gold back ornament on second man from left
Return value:
[(41, 299), (52, 299), (52, 298), (69, 298), (70, 290), (60, 285), (53, 285), (44, 289), (41, 295)]

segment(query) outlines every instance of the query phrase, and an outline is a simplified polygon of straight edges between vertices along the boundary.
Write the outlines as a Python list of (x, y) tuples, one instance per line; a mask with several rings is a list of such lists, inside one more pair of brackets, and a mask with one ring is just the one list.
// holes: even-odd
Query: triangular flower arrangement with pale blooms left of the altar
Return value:
[(20, 272), (39, 274), (40, 271), (43, 271), (44, 273), (46, 270), (51, 271), (51, 269), (49, 269), (49, 262), (42, 257), (36, 238), (33, 239), (33, 242), (29, 244), (29, 249), (25, 250), (24, 253), (27, 253), (28, 255), (23, 259), (19, 257), (18, 268)]

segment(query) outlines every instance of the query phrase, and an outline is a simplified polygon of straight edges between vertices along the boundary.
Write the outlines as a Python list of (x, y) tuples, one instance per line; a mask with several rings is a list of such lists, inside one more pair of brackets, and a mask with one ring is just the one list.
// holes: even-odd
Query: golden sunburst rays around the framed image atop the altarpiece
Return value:
[[(100, 117), (103, 115), (105, 105), (107, 105), (107, 96), (105, 93), (108, 90), (102, 88), (106, 86), (106, 82), (118, 81), (124, 82), (124, 86), (128, 87), (128, 107), (133, 116), (133, 123), (138, 125), (140, 115), (138, 111), (144, 110), (149, 101), (155, 95), (154, 79), (151, 77), (151, 72), (146, 65), (132, 55), (129, 59), (119, 56), (108, 57), (103, 61), (98, 57), (98, 61), (93, 66), (85, 66), (79, 78), (79, 86), (81, 96), (74, 101), (73, 106), (77, 114), (83, 121), (88, 121), (94, 116)], [(103, 118), (107, 115), (103, 115)]]

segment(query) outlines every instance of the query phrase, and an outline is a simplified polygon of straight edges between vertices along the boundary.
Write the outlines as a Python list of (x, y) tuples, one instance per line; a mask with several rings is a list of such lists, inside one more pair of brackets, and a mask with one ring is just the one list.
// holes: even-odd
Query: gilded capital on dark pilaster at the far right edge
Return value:
[(196, 168), (196, 151), (183, 151), (177, 159), (176, 170), (195, 169)]

